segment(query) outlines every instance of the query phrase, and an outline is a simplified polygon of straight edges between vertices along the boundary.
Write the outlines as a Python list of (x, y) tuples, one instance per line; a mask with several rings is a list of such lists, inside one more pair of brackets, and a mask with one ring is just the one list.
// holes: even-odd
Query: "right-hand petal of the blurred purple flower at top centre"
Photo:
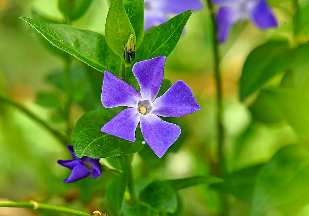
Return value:
[(203, 7), (200, 0), (159, 0), (160, 9), (165, 13), (180, 14), (186, 10), (199, 10)]

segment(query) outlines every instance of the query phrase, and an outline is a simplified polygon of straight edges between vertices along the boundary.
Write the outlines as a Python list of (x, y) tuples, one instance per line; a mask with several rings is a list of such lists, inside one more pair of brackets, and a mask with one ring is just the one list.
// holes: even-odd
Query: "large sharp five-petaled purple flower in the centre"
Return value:
[(163, 80), (165, 56), (140, 61), (133, 66), (141, 93), (131, 85), (104, 72), (102, 104), (106, 108), (128, 106), (118, 113), (101, 131), (110, 135), (135, 141), (135, 131), (140, 123), (146, 143), (158, 157), (178, 139), (181, 130), (159, 116), (179, 117), (201, 110), (190, 87), (182, 80), (176, 81), (162, 96), (155, 99)]

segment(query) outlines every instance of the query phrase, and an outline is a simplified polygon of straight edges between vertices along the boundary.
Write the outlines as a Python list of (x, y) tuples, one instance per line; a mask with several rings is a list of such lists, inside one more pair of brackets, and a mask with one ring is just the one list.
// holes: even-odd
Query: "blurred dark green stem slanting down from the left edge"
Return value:
[(34, 121), (45, 127), (51, 134), (53, 134), (61, 143), (67, 145), (68, 144), (68, 137), (66, 135), (62, 134), (59, 131), (54, 130), (51, 128), (47, 123), (45, 123), (43, 120), (41, 120), (39, 117), (37, 117), (35, 114), (27, 110), (26, 108), (20, 106), (19, 104), (11, 101), (8, 98), (5, 98), (0, 95), (0, 101), (5, 102), (7, 104), (10, 104), (11, 106), (14, 106), (15, 108), (19, 109), (22, 111), (24, 114), (28, 115), (30, 118), (32, 118)]

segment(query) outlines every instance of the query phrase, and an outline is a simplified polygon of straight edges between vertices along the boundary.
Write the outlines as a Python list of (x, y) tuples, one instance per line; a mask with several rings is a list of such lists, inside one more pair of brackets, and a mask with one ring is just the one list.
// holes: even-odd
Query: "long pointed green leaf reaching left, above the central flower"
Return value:
[(41, 23), (26, 17), (20, 19), (30, 24), (50, 43), (94, 69), (119, 73), (121, 59), (108, 47), (104, 35), (69, 25)]

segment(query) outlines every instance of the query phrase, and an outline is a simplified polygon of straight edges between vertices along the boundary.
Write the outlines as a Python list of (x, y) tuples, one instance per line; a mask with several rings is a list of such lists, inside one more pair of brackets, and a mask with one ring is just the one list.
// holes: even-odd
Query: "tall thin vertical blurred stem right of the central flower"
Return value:
[(217, 127), (218, 127), (218, 170), (217, 175), (220, 175), (223, 171), (224, 166), (224, 156), (223, 156), (223, 141), (224, 141), (224, 127), (222, 123), (222, 85), (221, 85), (221, 77), (219, 70), (219, 51), (218, 51), (218, 40), (217, 40), (217, 29), (216, 29), (216, 20), (214, 16), (214, 7), (210, 0), (206, 0), (209, 12), (210, 19), (212, 23), (212, 40), (213, 40), (213, 52), (214, 52), (214, 75), (216, 80), (216, 88), (217, 88)]

